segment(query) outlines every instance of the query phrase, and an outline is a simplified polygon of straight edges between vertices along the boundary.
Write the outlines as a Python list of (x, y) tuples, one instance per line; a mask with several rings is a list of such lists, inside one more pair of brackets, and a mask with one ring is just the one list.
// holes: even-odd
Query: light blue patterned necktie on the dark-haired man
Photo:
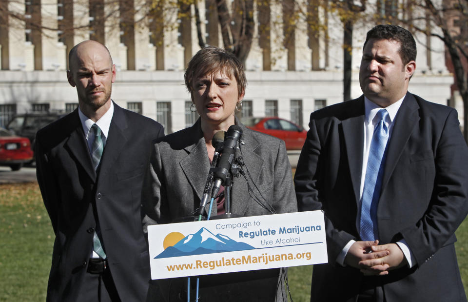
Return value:
[(359, 235), (363, 241), (378, 239), (377, 205), (379, 203), (380, 188), (385, 166), (385, 147), (389, 140), (389, 128), (385, 119), (389, 113), (387, 109), (380, 109), (377, 113), (378, 124), (374, 129), (370, 142), (369, 158), (367, 161), (366, 178), (361, 202), (361, 221)]

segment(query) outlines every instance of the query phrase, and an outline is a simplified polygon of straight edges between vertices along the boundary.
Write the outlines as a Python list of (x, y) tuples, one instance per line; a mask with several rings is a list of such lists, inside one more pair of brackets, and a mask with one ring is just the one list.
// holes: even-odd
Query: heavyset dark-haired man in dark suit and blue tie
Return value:
[(324, 211), (329, 257), (311, 301), (466, 301), (454, 232), (468, 148), (454, 109), (408, 92), (415, 59), (409, 31), (374, 27), (364, 96), (311, 114), (295, 189), (300, 210)]

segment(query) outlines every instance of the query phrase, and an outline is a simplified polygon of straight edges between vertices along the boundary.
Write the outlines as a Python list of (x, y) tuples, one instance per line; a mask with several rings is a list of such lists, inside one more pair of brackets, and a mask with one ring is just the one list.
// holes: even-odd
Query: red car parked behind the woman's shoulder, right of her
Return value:
[(277, 117), (246, 118), (242, 123), (253, 130), (263, 132), (286, 143), (287, 150), (300, 150), (306, 140), (307, 131), (301, 126)]

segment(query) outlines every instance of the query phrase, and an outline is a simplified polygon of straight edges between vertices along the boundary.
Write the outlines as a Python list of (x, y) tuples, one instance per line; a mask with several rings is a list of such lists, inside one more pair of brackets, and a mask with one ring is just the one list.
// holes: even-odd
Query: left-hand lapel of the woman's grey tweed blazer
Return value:
[[(192, 186), (196, 196), (201, 201), (210, 169), (210, 161), (208, 159), (208, 152), (206, 151), (205, 138), (201, 133), (199, 119), (188, 130), (187, 140), (198, 140), (193, 141), (193, 143), (184, 147), (184, 150), (188, 154), (179, 162), (179, 164), (182, 171), (185, 173), (188, 183)], [(189, 206), (192, 206), (192, 204)], [(216, 207), (214, 206), (214, 208)]]

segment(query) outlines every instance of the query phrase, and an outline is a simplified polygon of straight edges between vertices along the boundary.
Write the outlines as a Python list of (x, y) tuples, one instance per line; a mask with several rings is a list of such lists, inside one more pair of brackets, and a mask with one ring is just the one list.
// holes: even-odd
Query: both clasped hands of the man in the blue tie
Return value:
[(379, 245), (379, 241), (357, 241), (351, 245), (345, 263), (358, 268), (365, 276), (388, 275), (405, 265), (405, 255), (396, 243)]

